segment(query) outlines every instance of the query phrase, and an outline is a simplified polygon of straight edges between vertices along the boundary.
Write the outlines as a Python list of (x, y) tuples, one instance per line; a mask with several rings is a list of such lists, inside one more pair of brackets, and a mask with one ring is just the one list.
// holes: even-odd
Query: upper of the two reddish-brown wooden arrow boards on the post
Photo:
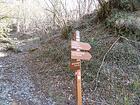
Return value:
[(90, 50), (91, 46), (88, 43), (71, 41), (71, 48), (72, 49), (80, 49), (80, 50)]

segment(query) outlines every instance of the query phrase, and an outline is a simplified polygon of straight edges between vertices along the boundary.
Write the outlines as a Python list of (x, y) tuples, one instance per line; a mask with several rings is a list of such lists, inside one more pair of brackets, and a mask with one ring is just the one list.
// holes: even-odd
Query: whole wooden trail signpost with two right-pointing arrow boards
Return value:
[(75, 92), (76, 105), (82, 105), (82, 91), (81, 91), (81, 60), (90, 60), (91, 55), (89, 51), (91, 46), (88, 43), (80, 42), (80, 32), (76, 31), (73, 40), (71, 41), (71, 70), (75, 71)]

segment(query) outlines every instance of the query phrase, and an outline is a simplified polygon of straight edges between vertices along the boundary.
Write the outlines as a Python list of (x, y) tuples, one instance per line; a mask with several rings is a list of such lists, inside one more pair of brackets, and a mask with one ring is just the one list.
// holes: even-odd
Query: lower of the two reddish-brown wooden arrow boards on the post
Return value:
[(89, 52), (71, 51), (71, 59), (90, 60), (91, 57)]

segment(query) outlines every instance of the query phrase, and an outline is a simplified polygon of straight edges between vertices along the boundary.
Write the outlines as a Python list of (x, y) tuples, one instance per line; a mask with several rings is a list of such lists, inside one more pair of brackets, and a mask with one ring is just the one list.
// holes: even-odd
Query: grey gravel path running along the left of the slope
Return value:
[[(33, 43), (30, 41), (28, 44), (28, 42), (21, 41), (20, 45), (23, 45), (24, 49), (22, 53), (18, 54), (6, 54), (6, 52), (0, 51), (0, 105), (55, 104), (51, 98), (44, 95), (33, 84), (31, 74), (24, 63), (24, 56), (27, 53), (27, 49), (30, 49), (30, 44)], [(2, 46), (0, 47), (2, 49)]]

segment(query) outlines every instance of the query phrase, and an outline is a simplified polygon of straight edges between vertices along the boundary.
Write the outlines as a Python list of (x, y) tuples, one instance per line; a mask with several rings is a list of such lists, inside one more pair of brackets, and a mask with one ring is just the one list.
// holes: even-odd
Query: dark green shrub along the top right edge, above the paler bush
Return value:
[(102, 22), (111, 15), (113, 9), (121, 11), (136, 11), (136, 0), (98, 0), (100, 8), (97, 10), (96, 20)]

